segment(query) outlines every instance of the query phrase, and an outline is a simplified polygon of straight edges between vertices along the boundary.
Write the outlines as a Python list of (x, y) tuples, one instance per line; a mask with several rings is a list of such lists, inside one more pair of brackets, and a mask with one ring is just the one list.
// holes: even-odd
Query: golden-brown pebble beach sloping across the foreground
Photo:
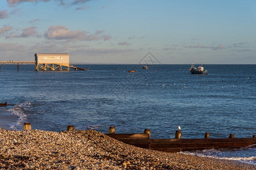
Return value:
[(0, 169), (256, 169), (255, 165), (126, 145), (94, 130), (0, 129)]

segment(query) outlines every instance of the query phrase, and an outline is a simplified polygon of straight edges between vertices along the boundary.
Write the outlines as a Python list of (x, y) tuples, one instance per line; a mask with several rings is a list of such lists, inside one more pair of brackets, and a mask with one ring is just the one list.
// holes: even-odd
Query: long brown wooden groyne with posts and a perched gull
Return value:
[[(146, 131), (146, 130), (145, 130)], [(176, 132), (176, 135), (180, 133)], [(146, 148), (150, 150), (164, 152), (180, 152), (219, 148), (240, 148), (256, 146), (256, 136), (252, 138), (234, 138), (234, 134), (229, 138), (209, 139), (209, 133), (205, 133), (204, 139), (181, 139), (177, 135), (176, 139), (150, 139), (150, 133), (142, 134), (106, 134), (123, 143)]]

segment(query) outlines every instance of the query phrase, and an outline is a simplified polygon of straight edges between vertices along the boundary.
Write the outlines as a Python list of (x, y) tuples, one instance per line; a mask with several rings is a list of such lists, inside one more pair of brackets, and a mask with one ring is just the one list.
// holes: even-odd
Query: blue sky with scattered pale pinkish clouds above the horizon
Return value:
[[(255, 0), (1, 0), (0, 61), (256, 64)], [(148, 61), (150, 64), (150, 61)]]

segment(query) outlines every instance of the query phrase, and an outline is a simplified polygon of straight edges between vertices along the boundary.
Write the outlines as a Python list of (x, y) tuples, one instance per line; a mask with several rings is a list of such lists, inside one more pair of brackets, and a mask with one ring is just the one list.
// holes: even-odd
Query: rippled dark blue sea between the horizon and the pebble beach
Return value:
[[(252, 138), (256, 135), (256, 65), (74, 65), (89, 71), (35, 71), (34, 65), (2, 65), (0, 114), (16, 116), (11, 130), (93, 129), (143, 133), (151, 138)], [(128, 70), (135, 70), (129, 73)], [(183, 154), (256, 164), (256, 146)]]

